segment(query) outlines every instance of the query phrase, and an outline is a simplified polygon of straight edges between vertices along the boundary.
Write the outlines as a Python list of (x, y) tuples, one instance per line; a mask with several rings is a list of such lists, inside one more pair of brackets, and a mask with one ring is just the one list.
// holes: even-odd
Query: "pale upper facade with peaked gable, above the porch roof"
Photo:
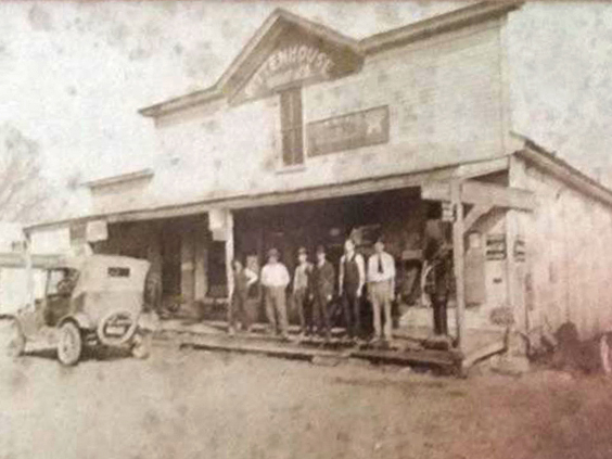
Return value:
[(141, 111), (160, 142), (145, 202), (118, 192), (107, 205), (98, 188), (94, 212), (500, 157), (503, 24), (514, 8), (479, 4), (360, 41), (276, 11), (212, 88)]

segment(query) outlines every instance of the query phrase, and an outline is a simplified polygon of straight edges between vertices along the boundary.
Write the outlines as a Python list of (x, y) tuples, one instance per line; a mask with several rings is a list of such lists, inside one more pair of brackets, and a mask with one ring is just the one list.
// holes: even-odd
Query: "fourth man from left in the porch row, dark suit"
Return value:
[(313, 319), (317, 324), (319, 335), (327, 340), (331, 337), (331, 323), (329, 316), (329, 303), (332, 299), (335, 271), (331, 263), (326, 259), (326, 247), (317, 247), (317, 263), (313, 268)]

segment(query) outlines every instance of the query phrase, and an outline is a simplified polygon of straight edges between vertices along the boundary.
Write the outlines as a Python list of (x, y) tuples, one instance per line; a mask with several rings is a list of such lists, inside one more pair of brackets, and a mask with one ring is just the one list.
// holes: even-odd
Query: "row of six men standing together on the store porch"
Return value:
[[(346, 334), (349, 339), (362, 339), (361, 307), (367, 285), (368, 299), (372, 305), (374, 341), (392, 339), (391, 306), (395, 297), (395, 260), (384, 251), (382, 239), (377, 240), (374, 253), (366, 265), (364, 256), (357, 253), (353, 240), (344, 243), (344, 254), (340, 259), (337, 293), (341, 299)], [(230, 304), (230, 333), (234, 328), (237, 311), (246, 314), (245, 292), (257, 281), (257, 275), (234, 262), (234, 292)], [(336, 270), (327, 259), (326, 248), (319, 245), (316, 260), (308, 260), (305, 247), (297, 251), (297, 266), (293, 283), (286, 267), (279, 259), (279, 252), (271, 248), (268, 262), (263, 267), (259, 282), (264, 289), (266, 315), (273, 330), (289, 340), (289, 321), (286, 311), (286, 289), (292, 283), (291, 293), (299, 318), (303, 335), (318, 334), (326, 340), (331, 337), (332, 299), (336, 286)], [(243, 327), (248, 328), (243, 319)]]

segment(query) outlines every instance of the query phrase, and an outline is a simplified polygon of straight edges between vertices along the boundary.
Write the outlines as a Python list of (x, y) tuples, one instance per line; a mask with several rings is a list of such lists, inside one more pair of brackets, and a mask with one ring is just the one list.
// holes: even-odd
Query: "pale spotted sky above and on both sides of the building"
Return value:
[[(59, 184), (136, 170), (156, 151), (138, 110), (214, 84), (275, 8), (358, 39), (466, 4), (1, 1), (0, 126)], [(526, 3), (508, 38), (514, 130), (612, 183), (612, 4)]]

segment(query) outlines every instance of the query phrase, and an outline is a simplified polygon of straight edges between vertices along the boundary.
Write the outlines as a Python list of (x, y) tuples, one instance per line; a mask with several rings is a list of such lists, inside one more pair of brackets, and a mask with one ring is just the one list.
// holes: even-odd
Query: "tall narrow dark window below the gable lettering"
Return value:
[(304, 164), (304, 123), (302, 90), (281, 92), (282, 162), (284, 166)]

